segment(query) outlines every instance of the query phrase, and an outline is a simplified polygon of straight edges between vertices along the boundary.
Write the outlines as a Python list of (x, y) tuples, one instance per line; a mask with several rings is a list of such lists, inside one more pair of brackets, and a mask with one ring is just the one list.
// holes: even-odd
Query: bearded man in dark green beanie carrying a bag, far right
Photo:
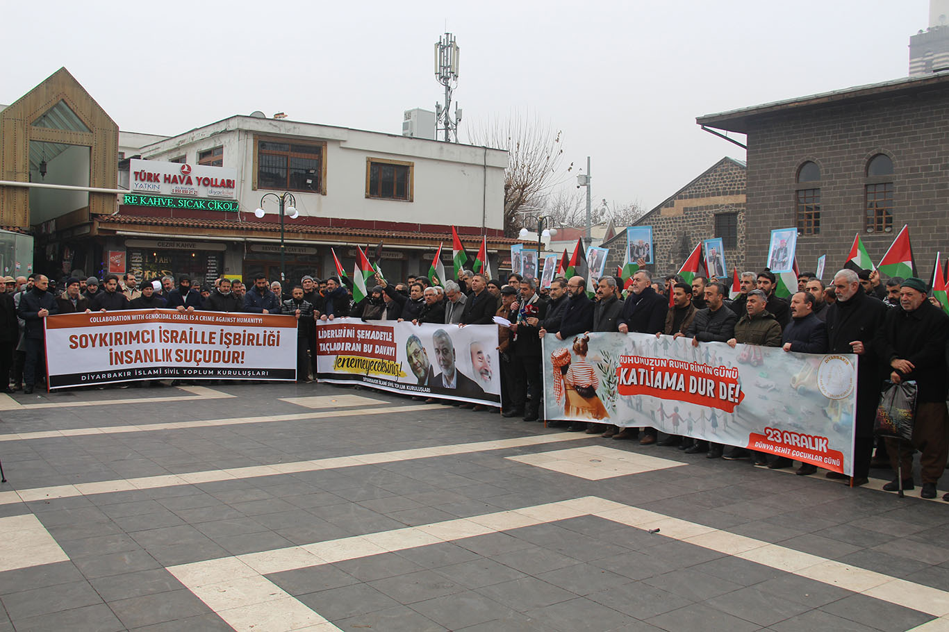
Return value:
[[(949, 316), (934, 307), (921, 279), (911, 276), (900, 286), (900, 307), (888, 309), (878, 336), (880, 360), (890, 381), (916, 381), (916, 418), (912, 447), (886, 439), (893, 472), (902, 461), (902, 489), (913, 489), (913, 448), (920, 451), (923, 498), (936, 497), (936, 483), (949, 457), (949, 410), (946, 408), (946, 335)], [(894, 478), (884, 491), (896, 492)], [(949, 497), (949, 494), (946, 494)]]

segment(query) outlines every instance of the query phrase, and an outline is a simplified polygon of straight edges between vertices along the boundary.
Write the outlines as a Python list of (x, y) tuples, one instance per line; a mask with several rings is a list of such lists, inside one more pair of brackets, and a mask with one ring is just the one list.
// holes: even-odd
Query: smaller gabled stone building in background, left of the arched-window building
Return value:
[[(661, 274), (679, 270), (699, 241), (721, 237), (728, 270), (745, 266), (745, 163), (722, 158), (642, 215), (635, 226), (652, 226), (654, 263)], [(603, 243), (607, 270), (625, 259), (626, 231)], [(615, 273), (615, 272), (614, 272)]]

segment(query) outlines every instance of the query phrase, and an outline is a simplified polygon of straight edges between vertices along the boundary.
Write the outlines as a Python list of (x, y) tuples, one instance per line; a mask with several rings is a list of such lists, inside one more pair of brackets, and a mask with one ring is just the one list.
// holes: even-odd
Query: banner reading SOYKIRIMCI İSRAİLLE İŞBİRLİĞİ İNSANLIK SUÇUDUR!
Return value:
[(50, 389), (137, 380), (296, 380), (297, 321), (137, 309), (46, 319)]

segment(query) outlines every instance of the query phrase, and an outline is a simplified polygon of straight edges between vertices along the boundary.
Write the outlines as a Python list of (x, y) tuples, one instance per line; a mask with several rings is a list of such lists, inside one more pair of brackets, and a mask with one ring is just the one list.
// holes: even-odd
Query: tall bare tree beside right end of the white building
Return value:
[[(506, 149), (511, 158), (504, 180), (504, 233), (517, 236), (530, 221), (518, 214), (524, 207), (542, 206), (543, 197), (557, 183), (564, 150), (560, 130), (528, 114), (513, 113), (507, 120), (491, 120), (469, 127), (474, 145)], [(567, 171), (573, 168), (571, 162)]]

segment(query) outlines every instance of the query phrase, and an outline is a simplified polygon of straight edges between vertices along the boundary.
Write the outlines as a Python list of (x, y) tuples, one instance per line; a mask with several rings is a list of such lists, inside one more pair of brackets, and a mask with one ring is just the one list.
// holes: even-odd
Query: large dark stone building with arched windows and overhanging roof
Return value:
[[(773, 229), (796, 227), (797, 262), (827, 280), (861, 233), (878, 262), (904, 224), (927, 277), (949, 251), (949, 73), (846, 88), (699, 117), (747, 136), (747, 266)], [(731, 263), (729, 264), (731, 266)]]

